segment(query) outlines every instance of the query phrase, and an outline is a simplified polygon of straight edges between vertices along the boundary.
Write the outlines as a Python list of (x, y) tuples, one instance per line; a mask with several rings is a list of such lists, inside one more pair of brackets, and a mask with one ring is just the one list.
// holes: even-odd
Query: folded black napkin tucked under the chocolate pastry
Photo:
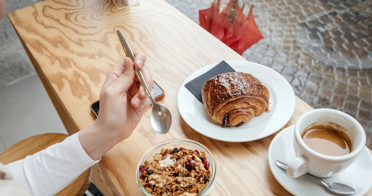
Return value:
[(224, 74), (224, 73), (229, 73), (229, 72), (235, 72), (235, 70), (232, 67), (230, 67), (230, 65), (227, 64), (227, 62), (221, 61), (218, 65), (214, 66), (214, 68), (212, 68), (211, 70), (189, 81), (187, 84), (185, 84), (185, 86), (187, 89), (189, 89), (192, 92), (192, 94), (196, 96), (196, 98), (199, 99), (199, 101), (203, 102), (203, 99), (202, 99), (203, 84), (207, 80), (219, 74)]

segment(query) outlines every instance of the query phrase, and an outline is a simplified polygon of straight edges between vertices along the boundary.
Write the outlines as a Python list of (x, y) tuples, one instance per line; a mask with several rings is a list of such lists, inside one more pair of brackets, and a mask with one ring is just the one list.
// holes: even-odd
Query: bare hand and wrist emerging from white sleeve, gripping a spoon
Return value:
[(153, 77), (144, 65), (145, 54), (133, 53), (134, 63), (124, 57), (107, 75), (99, 96), (99, 115), (91, 126), (78, 134), (81, 146), (93, 160), (99, 160), (118, 142), (129, 138), (150, 106), (150, 100), (135, 75), (136, 67), (141, 69), (151, 94), (155, 96)]

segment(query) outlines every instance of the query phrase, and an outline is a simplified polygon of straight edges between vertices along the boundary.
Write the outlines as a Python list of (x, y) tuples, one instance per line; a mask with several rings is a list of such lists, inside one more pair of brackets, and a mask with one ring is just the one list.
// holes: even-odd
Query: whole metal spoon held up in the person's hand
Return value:
[[(126, 56), (131, 58), (132, 61), (134, 62), (134, 54), (133, 54), (131, 48), (129, 47), (128, 42), (126, 42), (126, 40), (125, 40), (123, 34), (120, 32), (120, 30), (117, 30), (116, 33), (119, 36), (121, 45), (124, 48)], [(145, 79), (142, 75), (141, 70), (138, 70), (136, 68), (135, 73), (136, 73), (138, 79), (140, 80), (143, 88), (145, 89), (146, 95), (147, 95), (148, 99), (150, 100), (151, 105), (153, 105), (153, 111), (151, 112), (151, 126), (159, 134), (166, 134), (169, 131), (170, 125), (172, 123), (171, 113), (169, 112), (169, 110), (166, 107), (156, 103), (153, 95), (151, 94), (151, 91), (147, 87), (147, 84), (145, 82)]]

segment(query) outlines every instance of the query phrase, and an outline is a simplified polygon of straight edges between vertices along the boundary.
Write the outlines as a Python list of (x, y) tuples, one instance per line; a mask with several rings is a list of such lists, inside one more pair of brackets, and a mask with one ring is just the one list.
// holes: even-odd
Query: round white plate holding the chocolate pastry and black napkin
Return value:
[(264, 112), (240, 127), (225, 127), (215, 123), (204, 105), (185, 87), (185, 84), (202, 75), (218, 63), (195, 71), (183, 82), (177, 97), (177, 105), (183, 120), (195, 131), (213, 139), (228, 142), (246, 142), (261, 139), (281, 129), (295, 111), (295, 93), (288, 81), (278, 72), (257, 63), (227, 62), (235, 71), (249, 73), (258, 78), (270, 93), (271, 112)]

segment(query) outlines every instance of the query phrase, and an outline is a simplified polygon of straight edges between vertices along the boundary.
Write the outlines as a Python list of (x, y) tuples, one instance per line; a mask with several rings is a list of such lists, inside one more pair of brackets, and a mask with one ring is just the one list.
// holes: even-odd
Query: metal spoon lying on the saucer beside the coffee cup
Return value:
[[(288, 168), (288, 165), (283, 163), (282, 161), (275, 161), (275, 164), (277, 166), (285, 169), (285, 170), (287, 170), (287, 168)], [(355, 189), (353, 189), (350, 186), (347, 186), (346, 184), (341, 184), (341, 183), (337, 183), (337, 182), (326, 183), (324, 180), (322, 180), (318, 177), (315, 177), (315, 176), (313, 176), (309, 173), (306, 173), (303, 176), (306, 176), (308, 178), (311, 178), (313, 180), (316, 180), (316, 181), (322, 183), (332, 193), (336, 193), (336, 194), (339, 194), (339, 195), (352, 195), (352, 194), (355, 193)]]

